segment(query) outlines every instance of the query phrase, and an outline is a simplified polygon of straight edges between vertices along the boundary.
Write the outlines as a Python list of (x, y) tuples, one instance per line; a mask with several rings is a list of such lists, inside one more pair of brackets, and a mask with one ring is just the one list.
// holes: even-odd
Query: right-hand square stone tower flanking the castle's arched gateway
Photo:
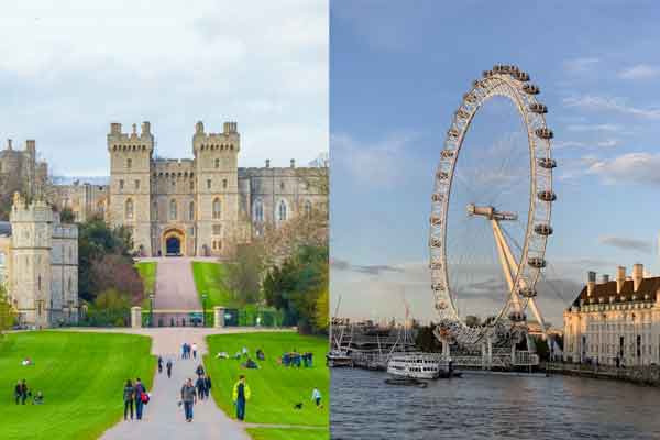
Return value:
[(235, 122), (222, 133), (206, 133), (197, 122), (193, 136), (196, 168), (197, 254), (230, 256), (243, 240), (239, 219), (238, 156), (241, 139)]

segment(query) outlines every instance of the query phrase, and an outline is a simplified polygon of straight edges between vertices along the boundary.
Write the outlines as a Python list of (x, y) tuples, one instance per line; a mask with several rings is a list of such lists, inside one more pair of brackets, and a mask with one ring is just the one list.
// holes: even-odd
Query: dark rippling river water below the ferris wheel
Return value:
[(659, 388), (481, 373), (416, 388), (386, 377), (332, 371), (332, 439), (660, 439)]

